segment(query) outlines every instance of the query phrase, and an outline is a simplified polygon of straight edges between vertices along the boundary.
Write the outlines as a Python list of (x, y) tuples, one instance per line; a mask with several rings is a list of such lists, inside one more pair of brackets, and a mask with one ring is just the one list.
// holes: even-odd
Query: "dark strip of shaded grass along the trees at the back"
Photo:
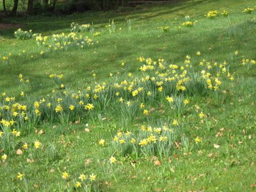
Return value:
[[(187, 10), (201, 3), (210, 3), (213, 0), (188, 0), (186, 2), (178, 3), (166, 3), (164, 5), (157, 6), (145, 6), (147, 9), (143, 10), (132, 10), (131, 12), (121, 12), (116, 11), (110, 12), (86, 12), (82, 14), (67, 15), (64, 17), (42, 17), (40, 15), (35, 17), (25, 17), (25, 18), (10, 18), (8, 21), (16, 22), (24, 25), (24, 30), (33, 29), (36, 33), (42, 33), (44, 35), (49, 35), (52, 31), (64, 31), (68, 32), (71, 22), (91, 23), (93, 22), (97, 28), (104, 27), (109, 19), (115, 19), (116, 22), (124, 22), (125, 18), (131, 17), (134, 20), (147, 20), (163, 15), (170, 15), (173, 13), (173, 17), (177, 15), (180, 10)], [(194, 9), (196, 10), (196, 9)], [(200, 12), (198, 10), (198, 12)], [(186, 12), (184, 12), (186, 13)], [(182, 15), (182, 14), (181, 14)], [(13, 33), (16, 29), (1, 30), (0, 35), (4, 38), (14, 38)]]

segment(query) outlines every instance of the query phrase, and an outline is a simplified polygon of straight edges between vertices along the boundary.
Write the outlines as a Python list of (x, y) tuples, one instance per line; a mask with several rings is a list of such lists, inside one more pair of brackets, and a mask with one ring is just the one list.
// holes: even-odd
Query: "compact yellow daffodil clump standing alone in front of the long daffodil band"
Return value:
[[(173, 143), (179, 136), (179, 124), (151, 127), (141, 125), (137, 133), (118, 131), (113, 138), (112, 145), (119, 156), (134, 155), (136, 157), (168, 157)], [(115, 157), (109, 159), (116, 161)]]

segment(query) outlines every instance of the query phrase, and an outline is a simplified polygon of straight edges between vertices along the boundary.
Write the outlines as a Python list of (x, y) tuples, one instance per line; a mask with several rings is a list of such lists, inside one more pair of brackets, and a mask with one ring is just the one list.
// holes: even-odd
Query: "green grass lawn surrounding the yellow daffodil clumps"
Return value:
[[(70, 90), (84, 90), (95, 81), (113, 83), (127, 79), (127, 72), (141, 77), (138, 72), (140, 63), (136, 61), (140, 56), (184, 63), (189, 55), (195, 65), (191, 70), (195, 71), (203, 58), (219, 64), (227, 61), (235, 79), (223, 81), (219, 92), (189, 95), (190, 102), (181, 117), (163, 97), (152, 103), (145, 102), (147, 109), (155, 108), (149, 116), (140, 110), (138, 113), (132, 111), (134, 115), (130, 111), (131, 122), (129, 115), (124, 118), (120, 105), (113, 102), (105, 110), (95, 109), (79, 124), (75, 124), (75, 120), (72, 124), (45, 120), (32, 127), (30, 132), (20, 130), (21, 136), (15, 138), (15, 152), (0, 164), (1, 191), (73, 191), (81, 173), (97, 175), (92, 182), (92, 191), (255, 190), (251, 185), (256, 184), (256, 65), (241, 65), (242, 58), (256, 59), (255, 12), (252, 15), (242, 13), (244, 8), (255, 5), (254, 1), (182, 1), (120, 13), (13, 18), (11, 22), (22, 24), (22, 29), (33, 29), (42, 35), (68, 33), (71, 22), (93, 22), (95, 31), (101, 33), (93, 37), (100, 44), (88, 49), (47, 52), (36, 45), (35, 40), (16, 40), (13, 35), (16, 29), (0, 31), (0, 56), (11, 53), (8, 62), (0, 61), (0, 93), (16, 97), (17, 102), (34, 102), (52, 94), (54, 86), (49, 79), (52, 73), (62, 73), (62, 83)], [(207, 19), (205, 14), (211, 10), (227, 10), (229, 16)], [(198, 22), (193, 28), (179, 29), (186, 15)], [(131, 31), (126, 26), (126, 18), (132, 19)], [(110, 34), (105, 28), (109, 19), (115, 19), (115, 33)], [(163, 33), (159, 29), (161, 26), (170, 26), (170, 31)], [(82, 34), (92, 37), (90, 33)], [(26, 53), (19, 56), (23, 50)], [(42, 50), (45, 56), (40, 55)], [(202, 52), (202, 56), (196, 56), (197, 51)], [(236, 58), (235, 51), (239, 51)], [(34, 58), (31, 59), (31, 55)], [(120, 68), (122, 62), (125, 71)], [(111, 79), (110, 72), (114, 76), (117, 72), (121, 75)], [(93, 73), (97, 74), (95, 79)], [(19, 74), (29, 79), (28, 86), (19, 83)], [(20, 92), (26, 93), (29, 99), (20, 97)], [(198, 117), (196, 106), (207, 115), (204, 122)], [(79, 117), (83, 115), (77, 115), (77, 119)], [(173, 118), (180, 122), (180, 135), (175, 140), (179, 147), (173, 144), (170, 157), (117, 156), (116, 148), (111, 145), (116, 131), (137, 133), (141, 124), (172, 124)], [(86, 123), (91, 132), (84, 131)], [(45, 133), (35, 133), (34, 129), (43, 129)], [(195, 142), (197, 136), (202, 142)], [(188, 138), (187, 147), (182, 143), (182, 137)], [(106, 147), (100, 147), (100, 139), (106, 140)], [(35, 140), (40, 140), (43, 147), (36, 150), (33, 147)], [(23, 154), (19, 156), (16, 150), (25, 141), (29, 143), (29, 149), (22, 150)], [(220, 147), (215, 148), (214, 144)], [(118, 163), (108, 163), (112, 155)], [(156, 158), (161, 162), (159, 166), (154, 164)], [(35, 162), (28, 163), (27, 159)], [(65, 171), (70, 175), (67, 180), (61, 178)], [(17, 180), (18, 172), (24, 173), (23, 180)]]

